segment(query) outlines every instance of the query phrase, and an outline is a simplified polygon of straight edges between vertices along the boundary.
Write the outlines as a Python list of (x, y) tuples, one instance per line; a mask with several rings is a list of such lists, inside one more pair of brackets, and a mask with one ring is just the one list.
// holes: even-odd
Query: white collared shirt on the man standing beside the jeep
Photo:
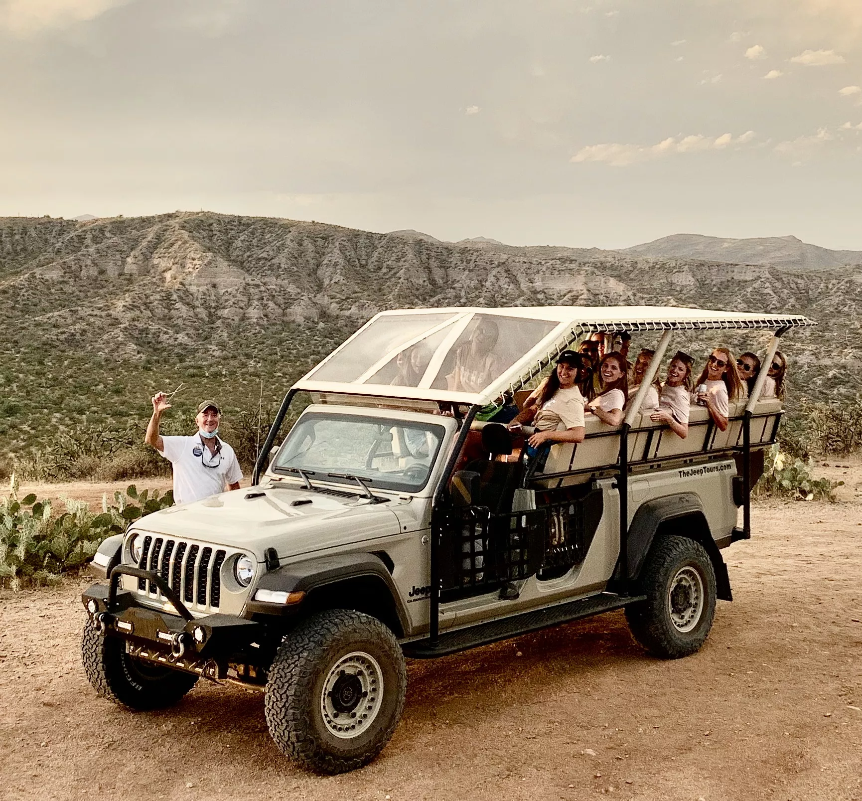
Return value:
[[(159, 451), (173, 465), (173, 499), (178, 504), (191, 504), (202, 497), (218, 495), (242, 478), (240, 463), (234, 448), (222, 442), (217, 456), (209, 453), (201, 435), (163, 436)], [(206, 465), (213, 465), (212, 467)]]

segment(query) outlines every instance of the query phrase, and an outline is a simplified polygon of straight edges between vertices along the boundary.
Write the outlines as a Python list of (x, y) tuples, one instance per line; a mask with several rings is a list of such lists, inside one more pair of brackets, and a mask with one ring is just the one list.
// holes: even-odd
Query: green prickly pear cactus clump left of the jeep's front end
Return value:
[(32, 493), (19, 500), (13, 475), (9, 496), (0, 497), (0, 586), (18, 590), (23, 585), (55, 584), (60, 573), (91, 560), (106, 537), (172, 504), (172, 491), (139, 493), (130, 485), (125, 493), (114, 493), (113, 504), (103, 497), (99, 515), (87, 504), (71, 500), (65, 502), (64, 512), (55, 515), (50, 500), (38, 500)]

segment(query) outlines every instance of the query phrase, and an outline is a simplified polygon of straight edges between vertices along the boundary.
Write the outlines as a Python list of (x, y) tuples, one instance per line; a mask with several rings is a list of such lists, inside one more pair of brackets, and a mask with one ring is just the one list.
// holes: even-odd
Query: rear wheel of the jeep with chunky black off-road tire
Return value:
[(640, 593), (647, 600), (626, 607), (635, 640), (660, 659), (700, 650), (715, 617), (715, 571), (699, 542), (681, 536), (654, 541), (640, 573)]

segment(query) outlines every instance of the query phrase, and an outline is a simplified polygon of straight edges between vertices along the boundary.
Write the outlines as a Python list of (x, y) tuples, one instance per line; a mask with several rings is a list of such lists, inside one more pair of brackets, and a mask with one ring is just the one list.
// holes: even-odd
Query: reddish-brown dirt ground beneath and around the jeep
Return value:
[(411, 661), (389, 746), (338, 777), (281, 756), (254, 691), (202, 681), (138, 714), (97, 699), (85, 579), (5, 591), (0, 797), (862, 801), (862, 469), (823, 470), (841, 503), (755, 506), (699, 654), (654, 660), (615, 612)]

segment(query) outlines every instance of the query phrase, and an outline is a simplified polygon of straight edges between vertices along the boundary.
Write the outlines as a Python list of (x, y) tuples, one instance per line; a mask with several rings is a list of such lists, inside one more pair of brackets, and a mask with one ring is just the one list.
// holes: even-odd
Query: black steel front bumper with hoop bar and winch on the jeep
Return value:
[[(123, 574), (152, 582), (177, 614), (142, 606), (134, 592), (119, 589)], [(257, 661), (254, 652), (259, 654), (265, 641), (265, 626), (233, 615), (196, 618), (158, 573), (118, 565), (109, 585), (92, 585), (81, 600), (93, 627), (126, 641), (128, 654), (210, 679), (258, 678), (249, 663)], [(231, 675), (235, 670), (228, 663), (241, 664), (242, 673)]]

